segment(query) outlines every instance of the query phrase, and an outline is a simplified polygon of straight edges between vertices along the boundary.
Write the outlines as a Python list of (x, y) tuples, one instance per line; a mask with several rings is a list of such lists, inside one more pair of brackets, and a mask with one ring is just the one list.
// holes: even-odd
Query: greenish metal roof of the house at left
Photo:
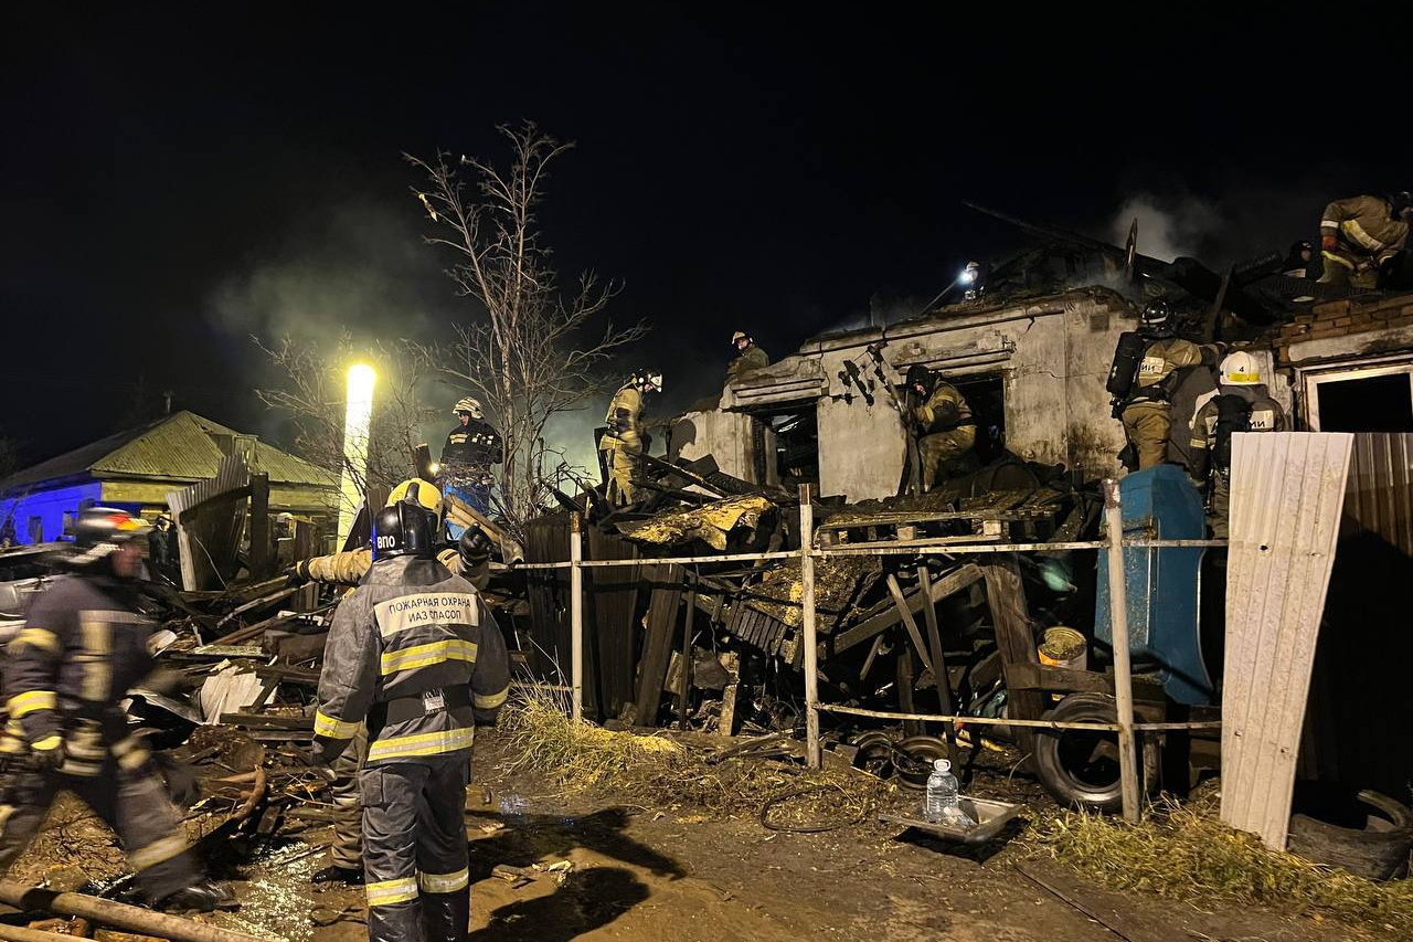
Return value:
[[(211, 419), (178, 412), (13, 474), (0, 481), (0, 492), (73, 477), (202, 481), (216, 475), (225, 457), (218, 438), (229, 437), (233, 444), (237, 436)], [(250, 470), (264, 471), (271, 484), (338, 487), (328, 471), (259, 440)]]

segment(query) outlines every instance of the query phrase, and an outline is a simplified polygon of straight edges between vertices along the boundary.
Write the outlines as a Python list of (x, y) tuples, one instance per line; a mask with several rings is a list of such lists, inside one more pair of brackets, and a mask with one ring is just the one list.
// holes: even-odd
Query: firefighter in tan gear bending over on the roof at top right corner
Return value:
[(1354, 280), (1368, 284), (1409, 238), (1413, 195), (1409, 191), (1390, 197), (1349, 197), (1325, 207), (1320, 219), (1320, 248), (1324, 256), (1321, 284), (1348, 286)]

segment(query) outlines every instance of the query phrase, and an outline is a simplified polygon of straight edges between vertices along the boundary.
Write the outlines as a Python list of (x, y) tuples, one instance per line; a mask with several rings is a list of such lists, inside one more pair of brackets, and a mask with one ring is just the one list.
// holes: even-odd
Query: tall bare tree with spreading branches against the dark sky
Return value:
[(545, 423), (601, 392), (609, 358), (647, 328), (615, 328), (601, 318), (619, 286), (599, 283), (592, 272), (572, 291), (560, 290), (536, 212), (550, 164), (574, 144), (533, 123), (499, 130), (512, 150), (504, 168), (447, 153), (431, 161), (404, 157), (425, 174), (425, 188), (414, 194), (434, 226), (427, 242), (451, 250), (447, 273), (458, 293), (485, 308), (454, 325), (455, 341), (422, 349), (442, 378), (480, 397), (499, 423), (502, 504), (520, 529), (545, 502), (554, 477), (545, 468)]

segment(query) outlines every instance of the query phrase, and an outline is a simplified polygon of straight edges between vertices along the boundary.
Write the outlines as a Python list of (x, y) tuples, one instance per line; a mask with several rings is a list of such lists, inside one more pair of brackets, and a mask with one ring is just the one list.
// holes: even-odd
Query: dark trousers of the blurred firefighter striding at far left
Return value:
[(181, 816), (150, 764), (126, 769), (112, 758), (92, 777), (34, 769), (14, 774), (0, 805), (0, 873), (30, 846), (55, 796), (65, 789), (113, 829), (148, 900), (164, 900), (202, 880)]

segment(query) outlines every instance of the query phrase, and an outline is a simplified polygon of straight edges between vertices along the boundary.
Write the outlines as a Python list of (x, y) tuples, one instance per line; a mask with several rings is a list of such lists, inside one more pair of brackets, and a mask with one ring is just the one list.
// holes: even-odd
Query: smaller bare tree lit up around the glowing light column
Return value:
[(377, 373), (373, 416), (369, 426), (367, 471), (350, 468), (360, 494), (367, 487), (391, 488), (413, 474), (413, 448), (424, 441), (422, 426), (438, 410), (424, 395), (431, 366), (408, 341), (355, 347), (348, 335), (326, 348), (309, 341), (283, 338), (266, 347), (252, 338), (284, 373), (276, 389), (256, 389), (260, 400), (290, 417), (295, 429), (294, 453), (324, 468), (336, 479), (343, 474), (343, 421), (348, 368), (372, 361)]

